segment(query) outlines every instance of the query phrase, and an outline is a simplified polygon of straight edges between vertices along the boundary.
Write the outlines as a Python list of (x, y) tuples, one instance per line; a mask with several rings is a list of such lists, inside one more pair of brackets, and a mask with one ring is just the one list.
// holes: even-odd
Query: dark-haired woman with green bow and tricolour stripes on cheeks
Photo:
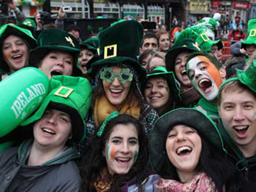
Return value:
[[(148, 161), (146, 137), (143, 126), (134, 117), (127, 114), (118, 116), (117, 111), (111, 113), (88, 149), (80, 168), (81, 192), (152, 189), (150, 177), (143, 183)], [(153, 178), (158, 177), (154, 175)]]

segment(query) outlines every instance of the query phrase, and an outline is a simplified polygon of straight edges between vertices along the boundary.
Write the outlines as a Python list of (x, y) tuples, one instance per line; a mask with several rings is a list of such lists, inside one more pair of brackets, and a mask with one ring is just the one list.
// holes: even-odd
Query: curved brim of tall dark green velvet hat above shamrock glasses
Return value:
[(95, 77), (97, 71), (99, 70), (100, 67), (106, 64), (128, 64), (131, 65), (131, 67), (134, 67), (135, 70), (138, 73), (139, 80), (140, 82), (143, 82), (146, 78), (146, 70), (141, 66), (139, 61), (131, 58), (131, 57), (112, 57), (112, 58), (107, 58), (107, 59), (100, 59), (99, 61), (96, 61), (92, 64), (91, 69), (87, 72), (92, 78)]

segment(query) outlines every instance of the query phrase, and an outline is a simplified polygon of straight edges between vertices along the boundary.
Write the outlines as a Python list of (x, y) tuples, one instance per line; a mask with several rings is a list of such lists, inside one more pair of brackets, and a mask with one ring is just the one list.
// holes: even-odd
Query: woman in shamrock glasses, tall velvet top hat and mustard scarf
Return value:
[[(113, 111), (139, 119), (146, 136), (150, 136), (157, 112), (143, 100), (139, 89), (146, 77), (145, 69), (136, 60), (142, 37), (143, 26), (132, 20), (113, 23), (99, 34), (100, 59), (88, 71), (96, 87), (92, 108), (86, 117), (86, 144)], [(81, 147), (83, 150), (84, 146)]]

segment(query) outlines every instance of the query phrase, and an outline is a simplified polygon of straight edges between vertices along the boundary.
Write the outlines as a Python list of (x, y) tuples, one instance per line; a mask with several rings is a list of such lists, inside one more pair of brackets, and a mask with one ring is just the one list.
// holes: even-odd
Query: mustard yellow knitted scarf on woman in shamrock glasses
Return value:
[(103, 95), (100, 98), (97, 98), (94, 105), (94, 117), (95, 124), (98, 127), (105, 118), (112, 112), (118, 111), (119, 114), (128, 114), (133, 116), (136, 119), (140, 117), (140, 107), (138, 107), (138, 102), (131, 102), (130, 104), (123, 104), (118, 110), (115, 106), (113, 106), (108, 98)]

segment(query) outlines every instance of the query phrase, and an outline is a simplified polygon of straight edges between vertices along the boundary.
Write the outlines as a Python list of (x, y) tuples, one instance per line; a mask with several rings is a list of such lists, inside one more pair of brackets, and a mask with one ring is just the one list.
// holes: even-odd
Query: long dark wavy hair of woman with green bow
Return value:
[[(139, 154), (136, 162), (132, 165), (129, 172), (125, 175), (108, 175), (108, 177), (101, 177), (101, 172), (107, 167), (105, 157), (103, 157), (102, 151), (105, 150), (105, 145), (109, 140), (109, 137), (116, 125), (134, 125), (138, 133), (139, 140)], [(97, 129), (98, 130), (98, 129)], [(143, 126), (140, 121), (128, 114), (121, 114), (114, 119), (111, 119), (105, 126), (105, 129), (101, 137), (98, 137), (95, 133), (94, 139), (90, 143), (86, 153), (81, 159), (80, 174), (82, 178), (80, 191), (81, 192), (96, 192), (94, 183), (97, 179), (101, 181), (113, 183), (110, 192), (120, 191), (120, 186), (126, 181), (130, 181), (136, 177), (136, 183), (139, 187), (139, 191), (143, 190), (142, 181), (145, 176), (142, 177), (142, 172), (145, 169), (145, 164), (148, 161), (147, 152), (147, 140), (143, 131)], [(100, 182), (100, 181), (99, 181)]]

